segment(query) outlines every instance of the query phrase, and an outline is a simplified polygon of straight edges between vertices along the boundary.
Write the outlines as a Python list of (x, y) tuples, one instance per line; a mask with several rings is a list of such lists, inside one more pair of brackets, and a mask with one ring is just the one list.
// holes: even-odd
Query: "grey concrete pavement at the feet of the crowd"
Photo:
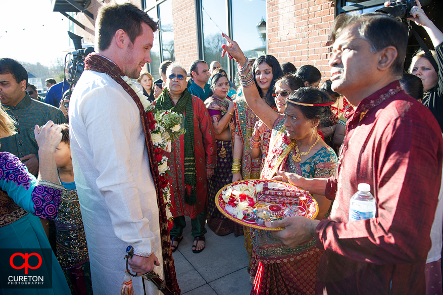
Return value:
[(173, 253), (181, 293), (186, 295), (249, 295), (249, 257), (244, 237), (218, 236), (206, 226), (206, 248), (192, 253), (191, 220), (186, 217), (183, 240)]

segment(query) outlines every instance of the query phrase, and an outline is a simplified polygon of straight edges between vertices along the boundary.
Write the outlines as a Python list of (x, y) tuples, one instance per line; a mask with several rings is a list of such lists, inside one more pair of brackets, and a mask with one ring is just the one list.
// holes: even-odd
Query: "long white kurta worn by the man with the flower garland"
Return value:
[[(163, 278), (159, 209), (139, 110), (106, 74), (83, 72), (69, 104), (75, 184), (88, 243), (94, 294), (119, 294), (125, 250), (153, 251)], [(141, 278), (132, 278), (143, 294)], [(158, 294), (146, 281), (147, 294)]]

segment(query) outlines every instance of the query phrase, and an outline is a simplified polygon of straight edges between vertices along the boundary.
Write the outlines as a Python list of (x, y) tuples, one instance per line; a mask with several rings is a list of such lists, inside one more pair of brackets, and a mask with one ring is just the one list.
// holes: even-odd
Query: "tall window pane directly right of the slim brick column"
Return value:
[(226, 1), (202, 0), (203, 19), (203, 58), (208, 66), (213, 61), (218, 61), (227, 71), (227, 57), (221, 57), (221, 46), (225, 43), (221, 32), (227, 32)]

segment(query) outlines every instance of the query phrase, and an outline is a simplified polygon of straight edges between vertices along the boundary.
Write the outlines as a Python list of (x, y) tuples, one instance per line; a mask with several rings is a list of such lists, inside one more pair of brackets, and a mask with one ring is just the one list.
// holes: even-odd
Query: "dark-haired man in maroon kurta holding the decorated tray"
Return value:
[[(406, 26), (384, 15), (340, 15), (334, 23), (332, 89), (356, 106), (336, 177), (281, 173), (311, 193), (334, 200), (329, 219), (292, 217), (267, 224), (288, 245), (313, 236), (325, 250), (317, 294), (423, 294), (430, 230), (441, 181), (443, 138), (432, 114), (398, 82)], [(375, 218), (349, 221), (359, 183), (376, 198)]]

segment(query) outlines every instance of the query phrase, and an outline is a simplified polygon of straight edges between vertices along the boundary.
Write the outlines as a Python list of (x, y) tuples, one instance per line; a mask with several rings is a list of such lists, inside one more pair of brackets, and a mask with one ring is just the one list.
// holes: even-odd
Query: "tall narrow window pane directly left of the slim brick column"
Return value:
[(172, 27), (172, 1), (168, 0), (159, 5), (160, 34), (162, 36), (163, 60), (175, 61), (174, 31)]

